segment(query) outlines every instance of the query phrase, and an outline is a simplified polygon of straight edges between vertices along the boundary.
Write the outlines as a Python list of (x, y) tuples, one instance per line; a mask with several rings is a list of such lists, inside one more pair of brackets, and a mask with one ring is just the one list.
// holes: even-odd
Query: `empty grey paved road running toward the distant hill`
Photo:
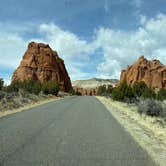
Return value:
[(94, 97), (71, 97), (0, 119), (0, 166), (153, 166)]

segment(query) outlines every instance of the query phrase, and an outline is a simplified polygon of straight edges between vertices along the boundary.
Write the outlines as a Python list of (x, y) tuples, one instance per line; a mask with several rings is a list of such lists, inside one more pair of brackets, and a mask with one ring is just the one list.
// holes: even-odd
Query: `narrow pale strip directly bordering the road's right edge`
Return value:
[(107, 98), (96, 96), (96, 98), (107, 108), (113, 117), (129, 132), (133, 139), (147, 151), (152, 160), (159, 166), (165, 165), (166, 147), (160, 144), (155, 138), (152, 138), (148, 131), (130, 119), (121, 110), (108, 103)]

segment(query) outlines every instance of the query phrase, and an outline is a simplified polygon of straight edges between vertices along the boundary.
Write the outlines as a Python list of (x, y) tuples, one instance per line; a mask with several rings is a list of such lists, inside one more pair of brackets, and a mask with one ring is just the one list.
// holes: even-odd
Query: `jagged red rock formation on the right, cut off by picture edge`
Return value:
[(166, 66), (158, 60), (148, 61), (141, 56), (133, 65), (122, 70), (120, 82), (123, 81), (130, 85), (144, 81), (149, 87), (166, 88)]

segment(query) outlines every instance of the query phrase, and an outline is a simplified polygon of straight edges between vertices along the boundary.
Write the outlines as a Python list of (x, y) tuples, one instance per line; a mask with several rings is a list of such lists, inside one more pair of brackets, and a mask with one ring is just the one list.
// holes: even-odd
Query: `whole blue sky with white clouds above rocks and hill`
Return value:
[(166, 0), (5, 0), (0, 78), (10, 82), (29, 42), (64, 59), (72, 80), (117, 78), (144, 55), (166, 64)]

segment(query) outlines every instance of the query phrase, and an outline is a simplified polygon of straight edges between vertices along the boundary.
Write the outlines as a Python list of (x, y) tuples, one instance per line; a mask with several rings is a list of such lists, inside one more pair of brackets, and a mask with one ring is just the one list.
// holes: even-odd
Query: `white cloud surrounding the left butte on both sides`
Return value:
[[(9, 26), (8, 26), (9, 27)], [(65, 61), (66, 67), (72, 79), (83, 79), (89, 77), (90, 73), (85, 72), (84, 69), (90, 63), (90, 56), (95, 50), (95, 46), (92, 43), (88, 43), (86, 40), (80, 39), (77, 35), (62, 30), (53, 23), (40, 24), (34, 29), (38, 30), (37, 38), (24, 39), (14, 28), (14, 33), (10, 33), (10, 29), (7, 28), (7, 32), (0, 32), (0, 65), (5, 68), (15, 69), (26, 50), (26, 47), (30, 41), (48, 43), (51, 48), (56, 50), (60, 57)], [(32, 31), (34, 29), (32, 28)], [(26, 28), (25, 32), (27, 31)], [(11, 30), (13, 32), (13, 28)], [(11, 70), (9, 71), (10, 75)], [(4, 72), (3, 72), (4, 73)], [(0, 71), (1, 76), (5, 80), (9, 80), (5, 74)]]

